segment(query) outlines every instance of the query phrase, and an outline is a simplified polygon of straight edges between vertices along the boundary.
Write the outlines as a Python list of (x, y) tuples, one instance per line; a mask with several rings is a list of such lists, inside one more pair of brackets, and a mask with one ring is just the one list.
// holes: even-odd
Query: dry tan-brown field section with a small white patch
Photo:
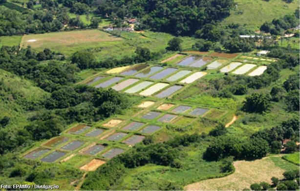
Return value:
[[(28, 42), (28, 40), (36, 41)], [(99, 47), (104, 43), (116, 43), (122, 40), (122, 38), (112, 36), (100, 30), (79, 30), (26, 35), (22, 39), (21, 48), (30, 45), (37, 51), (49, 48), (52, 51), (59, 51), (70, 55), (80, 49)]]

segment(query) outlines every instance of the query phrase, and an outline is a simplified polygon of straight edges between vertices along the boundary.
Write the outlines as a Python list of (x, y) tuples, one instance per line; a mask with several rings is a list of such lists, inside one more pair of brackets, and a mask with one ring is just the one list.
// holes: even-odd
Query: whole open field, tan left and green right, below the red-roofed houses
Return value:
[[(108, 57), (122, 58), (134, 53), (137, 46), (150, 48), (151, 51), (164, 50), (168, 41), (173, 38), (167, 33), (130, 33), (120, 32), (121, 38), (100, 30), (81, 30), (31, 34), (23, 37), (21, 47), (30, 45), (36, 51), (49, 48), (52, 51), (71, 55), (78, 50), (93, 52), (98, 60)], [(193, 38), (183, 37), (183, 48), (191, 48)], [(36, 40), (35, 42), (27, 42)]]

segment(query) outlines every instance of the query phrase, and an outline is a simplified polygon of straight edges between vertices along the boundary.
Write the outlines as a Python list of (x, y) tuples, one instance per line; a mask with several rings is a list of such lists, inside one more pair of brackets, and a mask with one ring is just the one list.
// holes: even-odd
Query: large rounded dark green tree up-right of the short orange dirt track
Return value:
[(267, 112), (271, 108), (270, 96), (266, 94), (254, 93), (246, 97), (243, 101), (242, 109), (249, 113), (259, 113)]

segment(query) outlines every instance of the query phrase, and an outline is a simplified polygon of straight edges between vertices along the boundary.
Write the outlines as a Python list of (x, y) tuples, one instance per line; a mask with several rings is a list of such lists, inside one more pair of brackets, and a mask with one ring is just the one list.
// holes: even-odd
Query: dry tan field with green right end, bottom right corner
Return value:
[(255, 161), (236, 161), (236, 171), (226, 177), (209, 179), (193, 183), (185, 187), (186, 190), (243, 190), (249, 189), (253, 183), (262, 181), (271, 184), (273, 176), (283, 178), (282, 173), (286, 170), (297, 169), (296, 165), (290, 164), (279, 156), (265, 157)]

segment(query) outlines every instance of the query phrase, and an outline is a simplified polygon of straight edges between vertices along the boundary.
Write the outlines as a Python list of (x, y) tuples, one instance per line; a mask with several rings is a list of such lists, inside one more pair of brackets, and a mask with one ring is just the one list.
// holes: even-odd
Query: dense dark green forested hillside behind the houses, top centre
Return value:
[(234, 0), (106, 0), (97, 14), (112, 18), (136, 17), (144, 29), (176, 35), (193, 35), (205, 24), (229, 16)]

